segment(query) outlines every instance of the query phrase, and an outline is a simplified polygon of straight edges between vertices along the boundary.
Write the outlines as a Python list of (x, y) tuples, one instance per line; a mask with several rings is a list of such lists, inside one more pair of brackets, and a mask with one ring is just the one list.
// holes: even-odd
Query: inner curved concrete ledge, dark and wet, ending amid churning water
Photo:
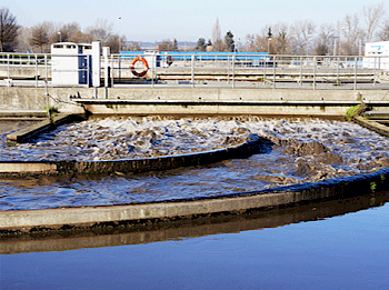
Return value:
[(188, 154), (100, 161), (2, 161), (0, 162), (0, 174), (110, 174), (170, 170), (179, 167), (210, 164), (227, 159), (248, 158), (258, 152), (260, 144), (266, 142), (270, 141), (251, 134), (247, 141), (238, 146)]

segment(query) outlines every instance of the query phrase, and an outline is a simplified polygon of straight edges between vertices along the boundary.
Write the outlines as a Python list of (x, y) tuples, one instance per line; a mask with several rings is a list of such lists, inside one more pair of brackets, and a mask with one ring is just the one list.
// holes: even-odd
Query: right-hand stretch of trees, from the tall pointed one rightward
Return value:
[(319, 27), (311, 20), (298, 20), (293, 24), (267, 24), (259, 33), (249, 33), (243, 42), (237, 44), (231, 31), (226, 33), (223, 41), (221, 40), (217, 19), (212, 41), (213, 44), (211, 40), (205, 44), (205, 39), (200, 38), (197, 50), (356, 56), (363, 53), (367, 42), (389, 41), (389, 18), (381, 2), (365, 6), (361, 11), (346, 14), (336, 23), (323, 23)]

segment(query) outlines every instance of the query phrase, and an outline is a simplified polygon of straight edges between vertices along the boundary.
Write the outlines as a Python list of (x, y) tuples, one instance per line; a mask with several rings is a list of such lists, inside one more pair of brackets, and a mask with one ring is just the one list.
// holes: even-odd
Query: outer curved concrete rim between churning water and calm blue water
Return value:
[(181, 217), (245, 212), (291, 206), (322, 199), (352, 197), (381, 191), (389, 186), (389, 168), (372, 173), (302, 183), (271, 190), (241, 192), (209, 198), (170, 200), (127, 206), (61, 208), (0, 212), (0, 236), (31, 230), (63, 230), (69, 227), (91, 228), (100, 223), (144, 220), (169, 220)]

